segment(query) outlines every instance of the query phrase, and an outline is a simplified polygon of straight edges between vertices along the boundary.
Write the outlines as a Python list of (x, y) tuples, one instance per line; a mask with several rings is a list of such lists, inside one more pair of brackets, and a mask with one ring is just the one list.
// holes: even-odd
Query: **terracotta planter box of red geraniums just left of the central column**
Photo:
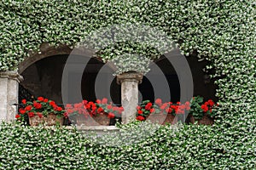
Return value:
[(77, 125), (84, 126), (108, 126), (110, 123), (110, 119), (107, 114), (96, 115), (96, 116), (84, 116), (78, 115), (76, 116)]

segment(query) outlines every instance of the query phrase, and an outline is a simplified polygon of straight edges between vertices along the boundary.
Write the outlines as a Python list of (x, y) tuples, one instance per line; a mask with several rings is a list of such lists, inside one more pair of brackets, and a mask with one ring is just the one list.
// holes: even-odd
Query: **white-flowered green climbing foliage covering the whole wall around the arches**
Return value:
[[(0, 3), (1, 71), (17, 68), (42, 42), (74, 46), (102, 27), (138, 23), (166, 32), (184, 54), (195, 53), (210, 61), (206, 71), (214, 69), (211, 72), (218, 85), (219, 107), (213, 127), (184, 126), (174, 137), (168, 127), (161, 127), (154, 138), (124, 148), (88, 143), (70, 131), (50, 136), (46, 130), (36, 133), (38, 129), (29, 127), (1, 127), (0, 167), (61, 167), (66, 161), (66, 166), (82, 164), (89, 168), (253, 168), (255, 8), (253, 0), (4, 0)], [(99, 55), (103, 59), (127, 53), (153, 58), (159, 55), (158, 50), (148, 47), (151, 43), (118, 44), (116, 48), (103, 48)]]

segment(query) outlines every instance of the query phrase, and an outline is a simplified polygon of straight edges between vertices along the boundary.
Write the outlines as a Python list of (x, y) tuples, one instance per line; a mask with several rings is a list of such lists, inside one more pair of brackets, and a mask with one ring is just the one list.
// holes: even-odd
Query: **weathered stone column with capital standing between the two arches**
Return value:
[(143, 80), (143, 75), (137, 72), (127, 72), (117, 76), (121, 84), (121, 102), (125, 109), (122, 122), (128, 123), (135, 119), (138, 104), (138, 84)]

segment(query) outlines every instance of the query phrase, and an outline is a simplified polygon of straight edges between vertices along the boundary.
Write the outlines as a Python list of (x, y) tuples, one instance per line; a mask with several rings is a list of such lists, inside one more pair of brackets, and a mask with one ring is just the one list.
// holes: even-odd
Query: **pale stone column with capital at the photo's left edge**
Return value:
[(0, 72), (0, 121), (15, 120), (18, 103), (19, 82), (23, 78), (16, 71)]

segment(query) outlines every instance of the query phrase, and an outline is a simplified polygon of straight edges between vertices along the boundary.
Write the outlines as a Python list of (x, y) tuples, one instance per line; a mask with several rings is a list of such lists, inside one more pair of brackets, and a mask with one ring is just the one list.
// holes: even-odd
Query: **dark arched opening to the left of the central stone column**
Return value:
[[(20, 99), (31, 94), (34, 97), (44, 96), (49, 99), (54, 99), (58, 104), (62, 104), (61, 78), (67, 58), (68, 55), (46, 57), (29, 65), (24, 71), (20, 72), (20, 75), (24, 77), (24, 81), (20, 82)], [(77, 79), (78, 72), (71, 71), (68, 73), (70, 80), (67, 83), (78, 83), (79, 86), (81, 86), (81, 90), (78, 94), (71, 94), (73, 91), (70, 91), (68, 102), (80, 102), (81, 98), (78, 96), (81, 95), (83, 99), (90, 101), (95, 101), (103, 97), (108, 98), (108, 96), (110, 96), (114, 104), (120, 104), (120, 87), (116, 80), (113, 79), (113, 73), (110, 68), (108, 68), (108, 71), (101, 73), (104, 74), (104, 77), (113, 79), (110, 89), (108, 89), (108, 87), (101, 88), (101, 95), (96, 95), (96, 77), (103, 65), (104, 63), (98, 59), (90, 58), (88, 64), (85, 66), (81, 80)], [(72, 81), (72, 79), (74, 81)], [(107, 80), (109, 79), (102, 79), (101, 83), (105, 84), (106, 82), (104, 81)]]

